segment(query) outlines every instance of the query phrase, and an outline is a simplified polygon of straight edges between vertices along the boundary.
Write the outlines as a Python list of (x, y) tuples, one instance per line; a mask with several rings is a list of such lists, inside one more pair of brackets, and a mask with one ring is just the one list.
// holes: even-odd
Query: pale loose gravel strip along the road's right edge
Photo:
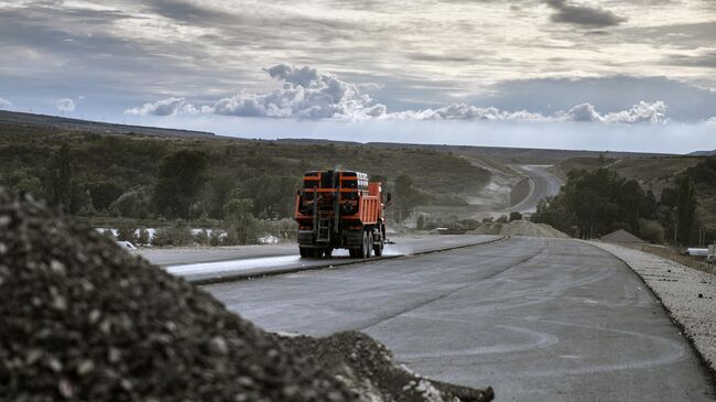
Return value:
[(643, 251), (598, 241), (631, 267), (684, 329), (703, 359), (716, 372), (716, 276)]

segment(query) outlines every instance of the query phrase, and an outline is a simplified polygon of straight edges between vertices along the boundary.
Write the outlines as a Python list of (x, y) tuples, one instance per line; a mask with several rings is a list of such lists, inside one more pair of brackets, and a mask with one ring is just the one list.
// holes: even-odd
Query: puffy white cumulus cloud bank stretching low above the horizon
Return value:
[(600, 113), (590, 104), (581, 104), (554, 115), (527, 110), (508, 111), (495, 107), (476, 107), (467, 104), (452, 104), (442, 108), (388, 112), (382, 104), (376, 102), (361, 88), (372, 84), (352, 84), (340, 80), (330, 73), (316, 68), (296, 68), (279, 64), (264, 69), (272, 78), (283, 83), (282, 87), (269, 94), (238, 94), (221, 98), (214, 105), (195, 106), (183, 97), (148, 102), (124, 110), (128, 115), (174, 116), (174, 115), (221, 115), (238, 117), (262, 117), (274, 119), (333, 119), (333, 120), (488, 120), (488, 121), (576, 121), (598, 123), (663, 123), (666, 121), (666, 105), (661, 101), (640, 101), (629, 110)]

